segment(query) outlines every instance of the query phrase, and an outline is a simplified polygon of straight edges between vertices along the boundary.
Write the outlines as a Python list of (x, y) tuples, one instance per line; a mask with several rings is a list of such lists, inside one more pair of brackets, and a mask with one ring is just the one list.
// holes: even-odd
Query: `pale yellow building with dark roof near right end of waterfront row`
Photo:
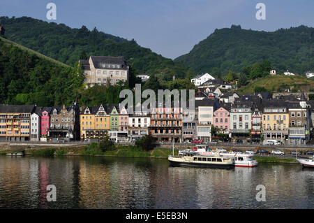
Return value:
[(289, 134), (289, 113), (285, 101), (267, 101), (262, 115), (264, 140), (273, 139), (285, 143)]

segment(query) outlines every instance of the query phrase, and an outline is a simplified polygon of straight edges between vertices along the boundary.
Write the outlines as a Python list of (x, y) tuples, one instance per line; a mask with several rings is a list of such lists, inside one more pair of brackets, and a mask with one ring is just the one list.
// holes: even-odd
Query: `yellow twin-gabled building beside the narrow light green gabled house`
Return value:
[(81, 138), (102, 138), (110, 129), (110, 115), (103, 105), (85, 107), (80, 113)]

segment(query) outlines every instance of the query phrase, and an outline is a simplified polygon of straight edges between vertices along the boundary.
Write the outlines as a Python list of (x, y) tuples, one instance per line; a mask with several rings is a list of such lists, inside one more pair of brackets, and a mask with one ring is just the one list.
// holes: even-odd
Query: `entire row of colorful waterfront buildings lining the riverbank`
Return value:
[(109, 136), (116, 142), (134, 142), (147, 134), (156, 141), (260, 143), (272, 139), (288, 145), (305, 145), (313, 130), (313, 103), (299, 99), (242, 95), (233, 103), (219, 99), (195, 100), (195, 110), (165, 108), (129, 114), (119, 104), (66, 107), (0, 106), (1, 141), (94, 140)]

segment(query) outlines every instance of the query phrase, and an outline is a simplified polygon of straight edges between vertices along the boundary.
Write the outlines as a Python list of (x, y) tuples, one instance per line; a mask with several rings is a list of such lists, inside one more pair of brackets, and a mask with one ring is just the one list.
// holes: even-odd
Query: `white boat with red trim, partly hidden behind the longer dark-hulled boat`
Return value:
[[(201, 155), (213, 155), (215, 151), (211, 151), (206, 145), (197, 145), (193, 151)], [(242, 152), (219, 152), (222, 157), (234, 157), (234, 166), (239, 167), (255, 167), (257, 166), (256, 159), (253, 159), (254, 154), (246, 154)]]

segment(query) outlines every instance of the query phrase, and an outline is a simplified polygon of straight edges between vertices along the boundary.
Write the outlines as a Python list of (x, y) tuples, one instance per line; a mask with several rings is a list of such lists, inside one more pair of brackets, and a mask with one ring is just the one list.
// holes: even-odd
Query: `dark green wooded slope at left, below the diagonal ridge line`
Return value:
[(0, 37), (0, 103), (70, 105), (84, 79), (77, 68)]

